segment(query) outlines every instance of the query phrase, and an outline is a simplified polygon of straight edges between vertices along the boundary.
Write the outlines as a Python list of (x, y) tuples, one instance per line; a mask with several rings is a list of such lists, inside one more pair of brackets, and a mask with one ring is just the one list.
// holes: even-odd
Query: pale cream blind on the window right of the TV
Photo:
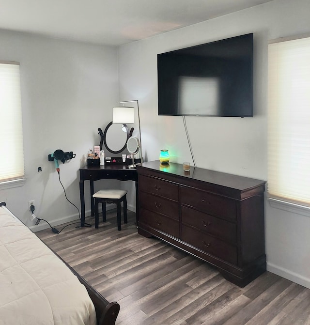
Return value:
[(310, 206), (310, 37), (268, 46), (268, 196)]

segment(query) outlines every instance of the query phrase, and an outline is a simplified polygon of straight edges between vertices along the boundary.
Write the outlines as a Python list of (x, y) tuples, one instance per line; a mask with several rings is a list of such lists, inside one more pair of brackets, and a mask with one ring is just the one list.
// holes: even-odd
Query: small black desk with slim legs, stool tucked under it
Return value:
[(94, 215), (93, 181), (100, 179), (117, 179), (134, 181), (136, 186), (136, 216), (138, 220), (138, 174), (136, 169), (128, 169), (128, 164), (106, 164), (105, 166), (85, 166), (79, 169), (79, 195), (81, 201), (81, 227), (85, 225), (84, 182), (89, 180), (91, 187), (91, 209)]

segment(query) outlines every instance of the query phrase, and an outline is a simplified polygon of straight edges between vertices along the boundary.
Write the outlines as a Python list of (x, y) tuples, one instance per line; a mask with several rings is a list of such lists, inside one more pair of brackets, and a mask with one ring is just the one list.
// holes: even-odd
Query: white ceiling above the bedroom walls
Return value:
[(0, 29), (119, 46), (271, 0), (0, 0)]

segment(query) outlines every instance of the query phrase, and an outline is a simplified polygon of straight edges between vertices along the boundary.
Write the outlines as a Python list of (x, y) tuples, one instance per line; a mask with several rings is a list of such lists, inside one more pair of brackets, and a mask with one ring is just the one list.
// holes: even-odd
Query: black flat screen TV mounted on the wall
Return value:
[(157, 55), (158, 115), (253, 117), (253, 33)]

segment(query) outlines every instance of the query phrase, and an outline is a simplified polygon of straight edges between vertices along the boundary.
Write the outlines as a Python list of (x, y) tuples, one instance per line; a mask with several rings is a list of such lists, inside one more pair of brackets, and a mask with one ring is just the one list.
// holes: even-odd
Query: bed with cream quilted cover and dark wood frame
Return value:
[(0, 202), (0, 325), (114, 325), (119, 310)]

